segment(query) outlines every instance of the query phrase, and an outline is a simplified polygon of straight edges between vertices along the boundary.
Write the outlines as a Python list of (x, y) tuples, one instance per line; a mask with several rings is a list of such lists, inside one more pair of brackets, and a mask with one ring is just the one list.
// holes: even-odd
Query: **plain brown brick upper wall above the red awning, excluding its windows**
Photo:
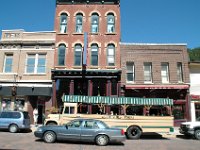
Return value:
[(176, 44), (121, 44), (122, 83), (126, 84), (126, 62), (135, 64), (135, 83), (144, 84), (143, 63), (152, 62), (153, 84), (161, 82), (161, 63), (169, 63), (169, 84), (179, 84), (177, 79), (177, 63), (182, 63), (183, 83), (189, 84), (188, 53), (186, 45)]

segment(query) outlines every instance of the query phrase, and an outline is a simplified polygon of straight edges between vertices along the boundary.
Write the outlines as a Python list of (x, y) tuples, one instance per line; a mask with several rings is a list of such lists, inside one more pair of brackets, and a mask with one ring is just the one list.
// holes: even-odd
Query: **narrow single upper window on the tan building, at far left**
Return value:
[(13, 65), (13, 54), (6, 54), (4, 59), (4, 73), (11, 73)]

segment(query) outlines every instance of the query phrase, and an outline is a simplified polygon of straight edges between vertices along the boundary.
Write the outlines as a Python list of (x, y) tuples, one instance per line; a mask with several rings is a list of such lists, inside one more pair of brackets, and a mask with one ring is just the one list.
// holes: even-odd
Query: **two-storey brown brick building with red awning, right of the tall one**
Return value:
[(186, 45), (121, 43), (120, 46), (124, 96), (174, 101), (172, 108), (133, 106), (127, 111), (144, 115), (172, 113), (175, 125), (188, 119), (190, 81)]

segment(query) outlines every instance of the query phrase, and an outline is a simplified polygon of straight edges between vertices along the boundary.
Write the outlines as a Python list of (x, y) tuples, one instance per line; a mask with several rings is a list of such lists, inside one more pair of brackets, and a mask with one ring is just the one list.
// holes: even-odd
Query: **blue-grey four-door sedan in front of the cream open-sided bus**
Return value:
[(95, 119), (75, 119), (62, 126), (38, 127), (34, 135), (46, 143), (56, 140), (87, 141), (101, 146), (109, 142), (123, 142), (126, 139), (123, 129), (110, 128), (104, 122)]

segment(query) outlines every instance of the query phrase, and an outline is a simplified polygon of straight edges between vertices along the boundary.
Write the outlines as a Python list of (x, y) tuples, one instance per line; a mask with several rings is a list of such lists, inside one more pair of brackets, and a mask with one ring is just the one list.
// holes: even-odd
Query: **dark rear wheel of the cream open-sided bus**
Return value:
[(137, 126), (130, 126), (127, 129), (127, 137), (129, 139), (139, 139), (141, 135), (142, 135), (142, 131)]

